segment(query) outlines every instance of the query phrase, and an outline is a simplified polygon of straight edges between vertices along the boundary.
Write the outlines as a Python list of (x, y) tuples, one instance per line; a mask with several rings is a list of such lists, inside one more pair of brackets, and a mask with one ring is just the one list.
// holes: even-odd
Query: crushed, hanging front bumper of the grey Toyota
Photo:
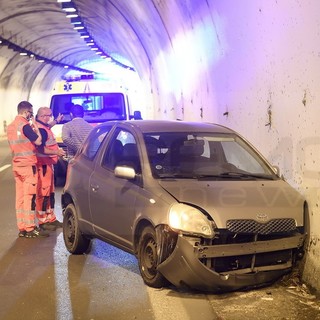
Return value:
[[(288, 238), (258, 241), (241, 244), (200, 245), (198, 238), (178, 236), (172, 254), (158, 266), (158, 270), (173, 285), (189, 287), (201, 291), (223, 292), (245, 288), (254, 288), (270, 284), (292, 269), (294, 254), (286, 262), (273, 265), (255, 266), (235, 269), (228, 272), (215, 272), (203, 263), (203, 259), (232, 257), (280, 250), (302, 248), (305, 236), (297, 234)], [(252, 259), (254, 261), (254, 258)]]

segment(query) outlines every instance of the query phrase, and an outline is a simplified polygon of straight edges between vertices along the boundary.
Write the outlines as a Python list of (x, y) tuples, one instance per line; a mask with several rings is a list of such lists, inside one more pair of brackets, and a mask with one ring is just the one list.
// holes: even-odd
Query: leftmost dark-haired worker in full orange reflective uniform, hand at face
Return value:
[(47, 237), (48, 232), (38, 228), (36, 218), (36, 145), (41, 144), (41, 134), (33, 118), (32, 104), (21, 101), (17, 109), (18, 115), (7, 127), (7, 138), (12, 152), (19, 237)]

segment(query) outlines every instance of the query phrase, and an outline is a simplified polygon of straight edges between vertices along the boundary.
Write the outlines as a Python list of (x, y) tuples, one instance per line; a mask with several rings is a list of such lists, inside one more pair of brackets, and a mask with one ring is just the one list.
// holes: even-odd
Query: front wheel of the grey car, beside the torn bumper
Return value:
[(156, 231), (151, 226), (143, 229), (138, 247), (139, 269), (143, 281), (150, 287), (162, 288), (168, 285), (168, 281), (157, 270), (158, 255)]

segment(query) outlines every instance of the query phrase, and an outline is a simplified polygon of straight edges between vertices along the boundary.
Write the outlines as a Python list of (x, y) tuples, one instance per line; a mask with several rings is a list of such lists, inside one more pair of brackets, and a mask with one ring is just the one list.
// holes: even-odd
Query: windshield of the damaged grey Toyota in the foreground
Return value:
[(266, 161), (235, 134), (144, 134), (156, 178), (276, 179)]

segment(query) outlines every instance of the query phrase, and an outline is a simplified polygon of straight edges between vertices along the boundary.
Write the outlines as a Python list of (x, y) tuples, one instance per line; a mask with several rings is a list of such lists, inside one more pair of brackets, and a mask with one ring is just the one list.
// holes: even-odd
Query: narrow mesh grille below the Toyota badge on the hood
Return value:
[(294, 219), (272, 219), (266, 223), (250, 219), (236, 219), (227, 221), (227, 229), (234, 233), (271, 234), (295, 230), (296, 223)]

